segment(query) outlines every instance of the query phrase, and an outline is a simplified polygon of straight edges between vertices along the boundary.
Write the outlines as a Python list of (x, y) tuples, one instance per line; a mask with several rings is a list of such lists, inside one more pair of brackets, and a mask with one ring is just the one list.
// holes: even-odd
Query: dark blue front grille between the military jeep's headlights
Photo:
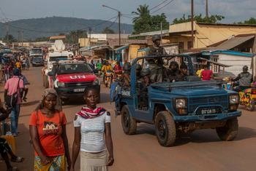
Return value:
[(228, 96), (207, 96), (198, 98), (189, 98), (189, 112), (194, 112), (198, 106), (222, 106), (228, 108)]

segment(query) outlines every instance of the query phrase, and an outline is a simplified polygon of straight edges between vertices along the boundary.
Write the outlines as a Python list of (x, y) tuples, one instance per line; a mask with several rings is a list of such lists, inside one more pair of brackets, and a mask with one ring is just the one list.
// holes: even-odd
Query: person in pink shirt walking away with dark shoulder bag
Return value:
[[(11, 111), (11, 132), (13, 136), (18, 135), (18, 117), (20, 115), (20, 103), (23, 95), (23, 80), (20, 79), (20, 70), (17, 68), (13, 71), (13, 76), (8, 79), (4, 85), (4, 100), (7, 106), (12, 108)], [(14, 103), (12, 103), (12, 101)]]

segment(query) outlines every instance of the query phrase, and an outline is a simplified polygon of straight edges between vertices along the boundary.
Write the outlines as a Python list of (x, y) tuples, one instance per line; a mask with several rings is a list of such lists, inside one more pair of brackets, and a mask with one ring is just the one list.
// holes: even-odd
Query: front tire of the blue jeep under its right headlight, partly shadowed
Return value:
[(217, 127), (216, 132), (220, 140), (230, 141), (236, 138), (238, 134), (237, 118), (227, 120), (224, 127)]

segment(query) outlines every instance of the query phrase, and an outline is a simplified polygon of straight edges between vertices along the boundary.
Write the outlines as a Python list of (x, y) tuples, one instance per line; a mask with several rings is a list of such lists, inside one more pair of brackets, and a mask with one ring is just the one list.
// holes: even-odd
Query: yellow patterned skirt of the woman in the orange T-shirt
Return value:
[(41, 164), (39, 156), (34, 158), (34, 171), (65, 171), (66, 170), (66, 158), (65, 155), (54, 156), (53, 161), (47, 165)]

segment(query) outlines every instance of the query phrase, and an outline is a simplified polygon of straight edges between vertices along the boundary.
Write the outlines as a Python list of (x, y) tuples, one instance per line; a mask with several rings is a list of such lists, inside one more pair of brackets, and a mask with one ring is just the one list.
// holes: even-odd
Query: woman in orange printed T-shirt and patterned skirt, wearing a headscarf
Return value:
[(71, 166), (66, 134), (67, 119), (56, 110), (58, 96), (55, 90), (46, 89), (42, 103), (31, 114), (29, 132), (34, 146), (34, 170), (66, 170)]

